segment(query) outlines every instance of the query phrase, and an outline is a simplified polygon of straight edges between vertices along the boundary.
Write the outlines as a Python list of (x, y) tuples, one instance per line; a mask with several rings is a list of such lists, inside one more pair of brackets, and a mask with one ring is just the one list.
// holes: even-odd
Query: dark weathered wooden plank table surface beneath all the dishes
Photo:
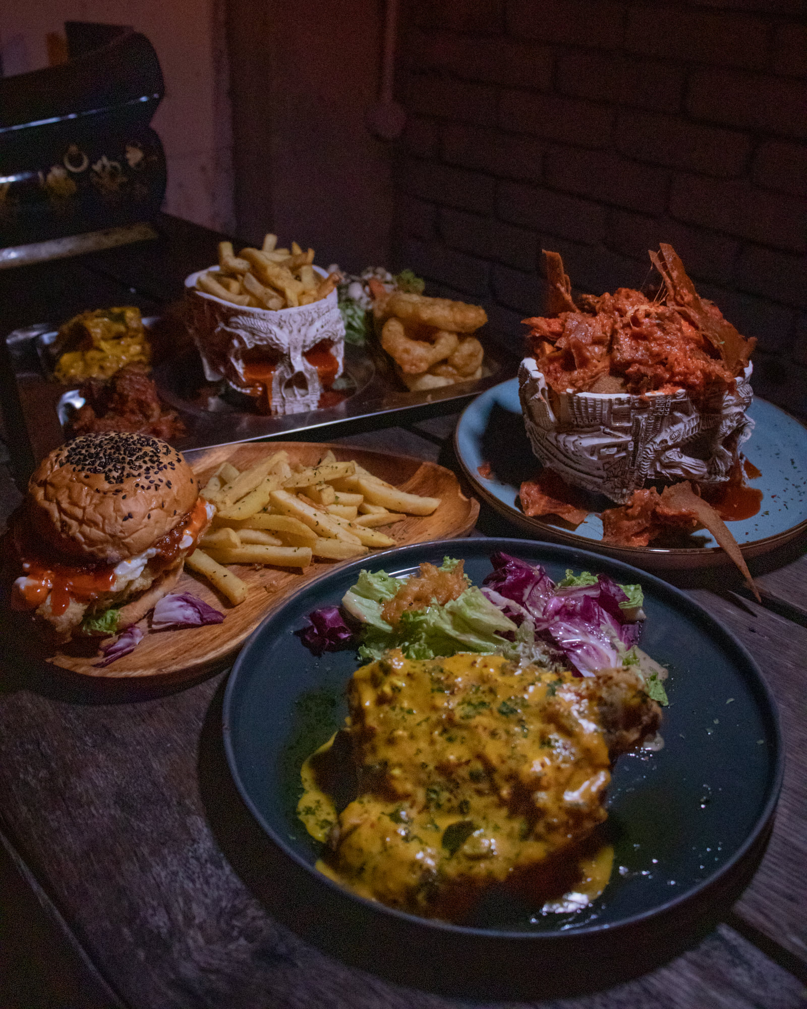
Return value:
[[(158, 311), (189, 272), (214, 261), (218, 237), (170, 218), (161, 219), (159, 230), (156, 242), (0, 271), (3, 334), (102, 305)], [(2, 395), (10, 396), (7, 382)], [(6, 420), (13, 443), (13, 404)], [(456, 420), (379, 424), (344, 442), (456, 469)], [(20, 497), (8, 463), (8, 456), (0, 459), (0, 521)], [(484, 506), (478, 530), (520, 535)], [(756, 563), (769, 593), (764, 606), (744, 598), (739, 579), (725, 569), (674, 579), (743, 642), (779, 702), (785, 784), (752, 884), (714, 932), (665, 967), (609, 991), (533, 1005), (807, 1004), (803, 553), (804, 544), (795, 545)], [(268, 842), (224, 760), (225, 681), (220, 673), (174, 691), (127, 685), (111, 691), (26, 668), (13, 641), (3, 643), (0, 1009), (459, 1006), (348, 968), (280, 923)]]

